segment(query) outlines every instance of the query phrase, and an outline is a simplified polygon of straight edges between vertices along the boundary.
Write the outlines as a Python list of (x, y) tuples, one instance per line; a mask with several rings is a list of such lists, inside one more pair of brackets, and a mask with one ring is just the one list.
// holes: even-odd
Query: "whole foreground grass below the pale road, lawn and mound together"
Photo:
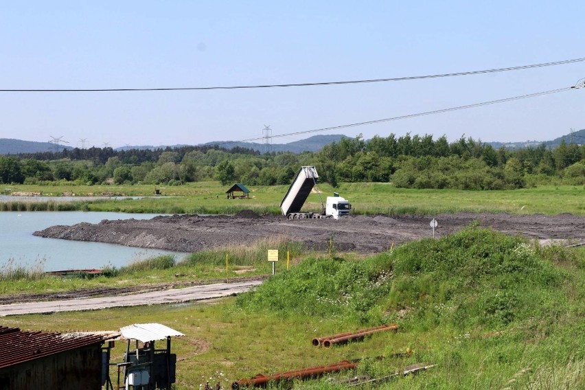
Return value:
[[(366, 259), (309, 255), (255, 292), (214, 305), (5, 317), (3, 325), (62, 331), (163, 323), (185, 333), (173, 340), (177, 389), (206, 381), (226, 387), (259, 373), (356, 358), (362, 363), (352, 376), (437, 365), (368, 389), (579, 389), (585, 385), (584, 254), (472, 225)], [(331, 349), (310, 344), (314, 336), (380, 323), (398, 323), (400, 330)], [(121, 344), (113, 353), (118, 358)], [(409, 350), (405, 358), (391, 356)], [(345, 388), (325, 379), (302, 387)]]

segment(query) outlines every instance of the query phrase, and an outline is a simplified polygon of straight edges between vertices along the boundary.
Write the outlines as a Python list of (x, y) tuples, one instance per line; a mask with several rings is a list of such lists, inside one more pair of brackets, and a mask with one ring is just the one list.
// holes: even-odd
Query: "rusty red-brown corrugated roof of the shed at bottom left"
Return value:
[(101, 344), (102, 336), (71, 336), (49, 332), (23, 332), (20, 328), (0, 326), (0, 368), (36, 360), (58, 354)]

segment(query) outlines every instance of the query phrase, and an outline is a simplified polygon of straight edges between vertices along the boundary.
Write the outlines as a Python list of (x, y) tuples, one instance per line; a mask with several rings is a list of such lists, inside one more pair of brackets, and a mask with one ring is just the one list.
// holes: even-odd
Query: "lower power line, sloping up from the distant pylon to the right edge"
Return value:
[[(277, 135), (273, 135), (272, 137), (273, 138), (288, 137), (290, 135), (299, 135), (299, 134), (308, 134), (308, 133), (319, 133), (321, 131), (337, 130), (337, 129), (340, 129), (340, 128), (348, 128), (348, 127), (356, 127), (356, 126), (365, 126), (365, 125), (368, 125), (368, 124), (378, 124), (378, 123), (382, 123), (382, 122), (391, 122), (391, 121), (395, 121), (395, 120), (399, 120), (399, 119), (408, 119), (408, 118), (413, 118), (413, 117), (422, 117), (424, 115), (433, 115), (433, 114), (439, 114), (439, 113), (447, 113), (448, 111), (457, 111), (457, 110), (464, 110), (466, 108), (474, 108), (474, 107), (479, 107), (479, 106), (488, 106), (490, 104), (498, 104), (498, 103), (503, 103), (503, 102), (511, 102), (513, 100), (520, 100), (520, 99), (527, 99), (527, 98), (535, 98), (536, 96), (550, 95), (551, 93), (559, 93), (559, 92), (564, 92), (564, 91), (571, 91), (571, 89), (577, 89), (577, 88), (580, 88), (580, 87), (575, 86), (575, 87), (566, 87), (566, 88), (560, 88), (560, 89), (553, 89), (551, 91), (542, 91), (542, 92), (537, 92), (537, 93), (530, 93), (528, 95), (514, 96), (514, 98), (505, 98), (505, 99), (498, 99), (498, 100), (490, 100), (489, 102), (474, 103), (474, 104), (468, 104), (466, 106), (458, 106), (458, 107), (452, 107), (452, 108), (442, 108), (441, 110), (426, 111), (424, 113), (416, 113), (416, 114), (402, 115), (400, 117), (391, 117), (391, 118), (385, 118), (385, 119), (376, 119), (376, 120), (373, 120), (373, 121), (358, 122), (358, 123), (354, 123), (354, 124), (344, 124), (344, 125), (340, 125), (340, 126), (332, 126), (332, 127), (325, 127), (325, 128), (316, 128), (316, 129), (313, 129), (313, 130), (296, 131), (295, 133), (277, 134)], [(262, 137), (242, 139), (239, 142), (257, 141), (259, 139), (262, 139)], [(231, 143), (231, 142), (238, 142), (238, 141), (227, 141), (226, 144)], [(220, 144), (220, 143), (218, 143), (218, 144)]]

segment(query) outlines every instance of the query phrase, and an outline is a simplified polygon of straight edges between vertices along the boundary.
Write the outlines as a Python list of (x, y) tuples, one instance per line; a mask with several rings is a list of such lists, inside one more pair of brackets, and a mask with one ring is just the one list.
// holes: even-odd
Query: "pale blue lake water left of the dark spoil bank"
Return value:
[(104, 219), (150, 219), (159, 215), (85, 211), (2, 211), (0, 212), (0, 267), (11, 259), (23, 266), (33, 266), (36, 262), (44, 262), (45, 271), (102, 268), (108, 264), (119, 267), (134, 260), (163, 254), (174, 254), (179, 260), (185, 255), (184, 253), (32, 235), (34, 231), (54, 225), (98, 223)]

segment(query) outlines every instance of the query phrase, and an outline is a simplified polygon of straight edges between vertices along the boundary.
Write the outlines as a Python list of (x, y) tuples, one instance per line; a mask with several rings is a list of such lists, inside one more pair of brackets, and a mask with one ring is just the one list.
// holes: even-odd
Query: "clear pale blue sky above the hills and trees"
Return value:
[[(3, 1), (0, 89), (143, 89), (426, 76), (585, 58), (575, 1)], [(202, 144), (571, 87), (585, 62), (369, 84), (0, 92), (0, 138)], [(314, 134), (545, 141), (585, 128), (585, 88)], [(287, 143), (313, 134), (273, 138)], [(262, 141), (259, 141), (262, 142)]]

